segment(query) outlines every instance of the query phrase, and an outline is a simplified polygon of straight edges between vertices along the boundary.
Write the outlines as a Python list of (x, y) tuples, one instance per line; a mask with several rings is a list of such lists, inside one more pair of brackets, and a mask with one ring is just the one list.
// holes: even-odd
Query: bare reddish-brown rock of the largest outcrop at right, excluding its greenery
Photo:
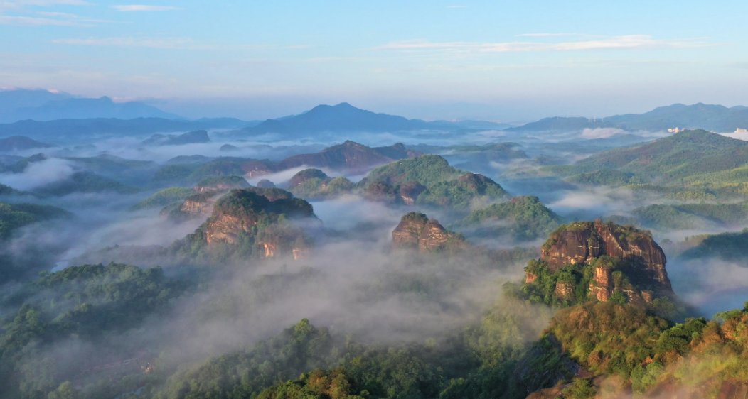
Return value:
[[(662, 248), (654, 242), (649, 232), (631, 226), (602, 223), (601, 220), (562, 226), (543, 244), (541, 259), (548, 262), (552, 271), (556, 271), (564, 265), (590, 263), (601, 256), (619, 259), (620, 270), (640, 291), (653, 291), (657, 296), (672, 294)], [(603, 274), (601, 270), (600, 284), (608, 287)], [(595, 275), (598, 276), (597, 271)], [(598, 291), (601, 293), (600, 289)]]

